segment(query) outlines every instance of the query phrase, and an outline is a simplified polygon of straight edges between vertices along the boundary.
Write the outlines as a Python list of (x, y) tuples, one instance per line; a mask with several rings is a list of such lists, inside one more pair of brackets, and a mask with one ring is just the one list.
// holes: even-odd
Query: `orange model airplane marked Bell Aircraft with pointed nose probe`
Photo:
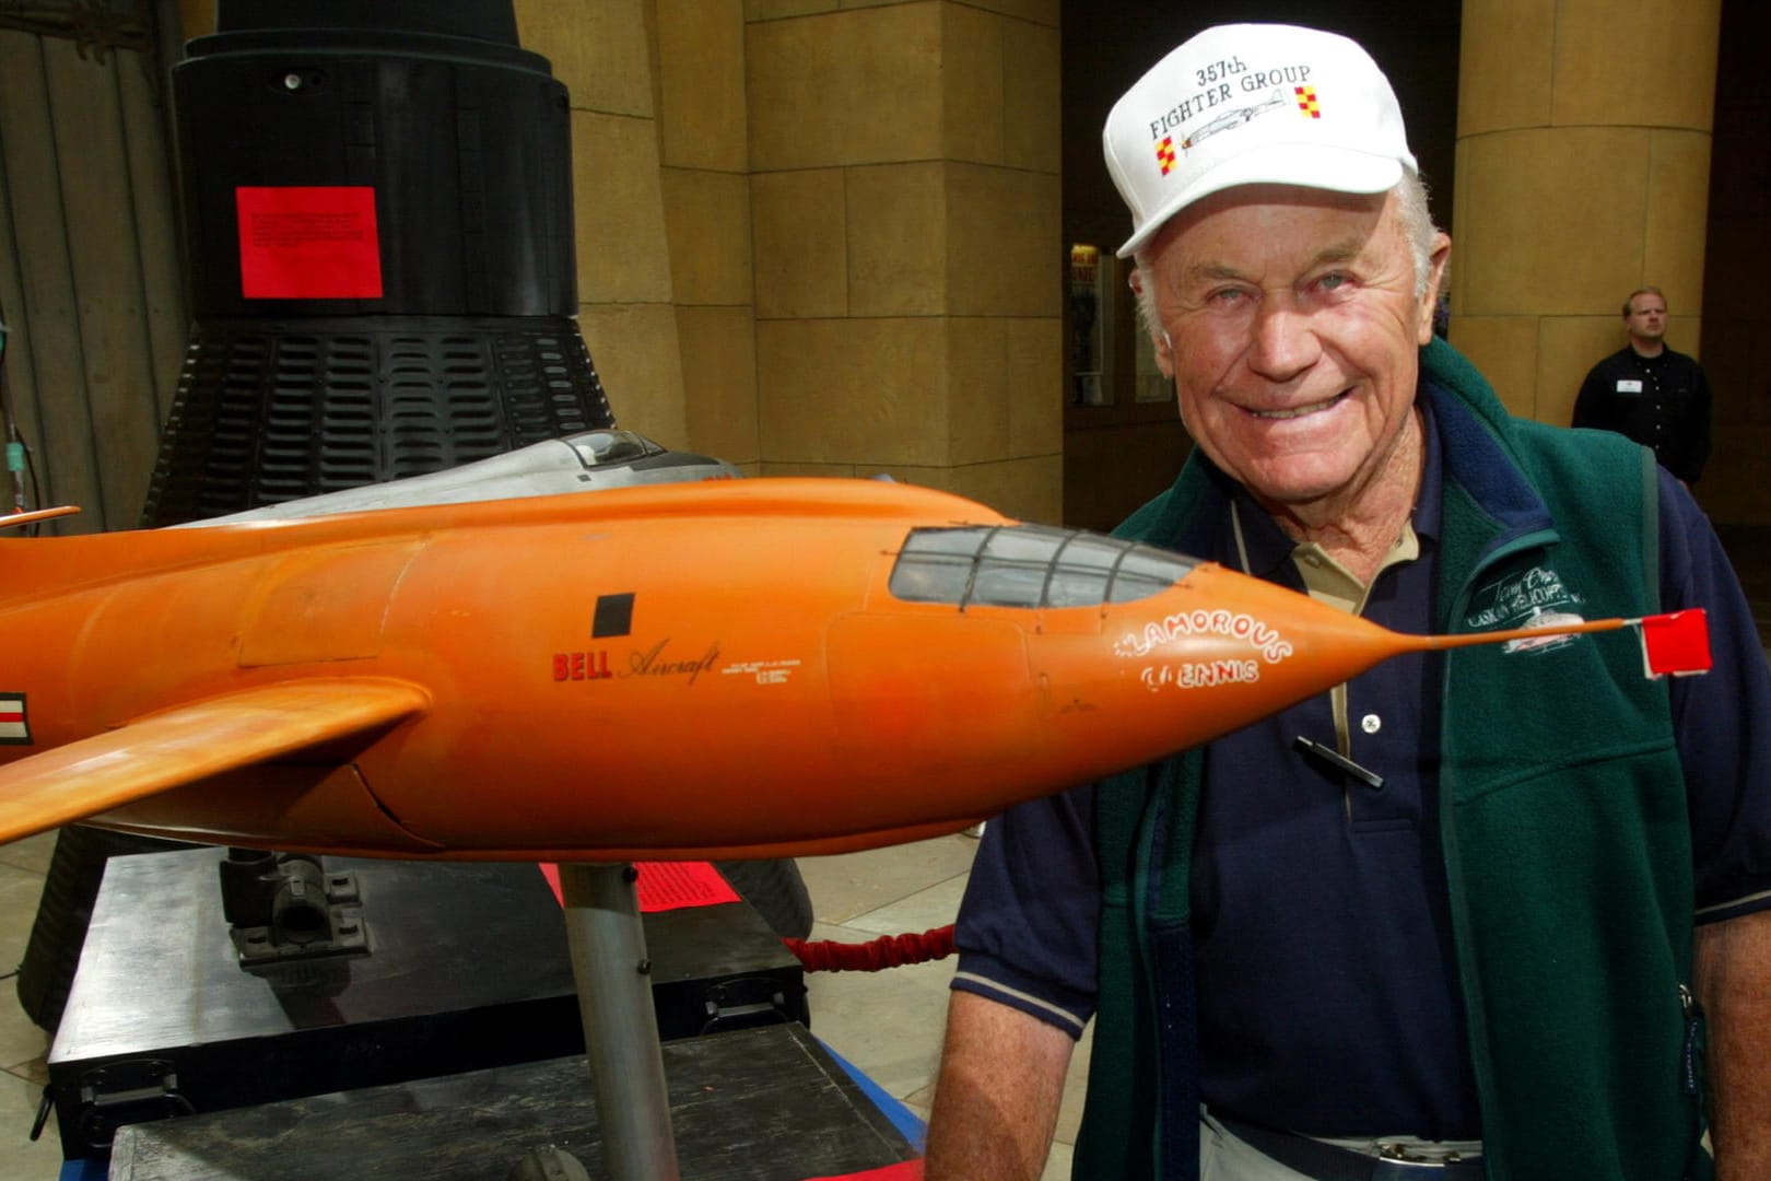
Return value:
[(1401, 652), (1622, 623), (1399, 636), (868, 480), (12, 536), (0, 841), (90, 820), (349, 855), (832, 853), (958, 830)]

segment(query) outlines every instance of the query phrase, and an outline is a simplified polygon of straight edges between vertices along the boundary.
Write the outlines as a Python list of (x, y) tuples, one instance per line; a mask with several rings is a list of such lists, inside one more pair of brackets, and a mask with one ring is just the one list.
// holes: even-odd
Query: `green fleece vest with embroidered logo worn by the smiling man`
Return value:
[[(1442, 630), (1495, 630), (1548, 586), (1580, 595), (1585, 618), (1658, 609), (1649, 452), (1509, 418), (1442, 342), (1422, 351), (1422, 379), (1470, 411), (1459, 428), (1481, 430), (1548, 508), (1539, 528), (1504, 519), (1447, 455)], [(1190, 462), (1121, 533), (1172, 544), (1208, 496)], [(1445, 866), (1489, 1181), (1707, 1177), (1702, 1046), (1682, 993), (1691, 843), (1665, 683), (1643, 676), (1633, 630), (1539, 652), (1484, 645), (1447, 653), (1442, 717)], [(1098, 793), (1100, 1009), (1079, 1181), (1197, 1170), (1201, 767), (1194, 751)]]

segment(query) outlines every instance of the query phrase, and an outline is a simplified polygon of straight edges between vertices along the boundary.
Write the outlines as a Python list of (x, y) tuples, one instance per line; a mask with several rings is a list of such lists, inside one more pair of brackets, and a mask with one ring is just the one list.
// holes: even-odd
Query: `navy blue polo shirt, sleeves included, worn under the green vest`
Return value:
[[(1426, 405), (1426, 400), (1422, 400)], [(1442, 450), (1431, 418), (1415, 561), (1364, 614), (1433, 630)], [(1295, 544), (1234, 492), (1213, 556), (1303, 590)], [(1716, 668), (1672, 683), (1688, 772), (1698, 921), (1771, 907), (1771, 675), (1714, 533), (1661, 473), (1663, 609), (1711, 613)], [(1296, 749), (1337, 745), (1321, 694), (1206, 747), (1192, 862), (1206, 1103), (1316, 1135), (1481, 1137), (1438, 839), (1440, 657), (1348, 682), (1348, 754), (1383, 786)], [(1094, 1006), (1093, 786), (1009, 809), (978, 850), (955, 988), (1080, 1034)]]

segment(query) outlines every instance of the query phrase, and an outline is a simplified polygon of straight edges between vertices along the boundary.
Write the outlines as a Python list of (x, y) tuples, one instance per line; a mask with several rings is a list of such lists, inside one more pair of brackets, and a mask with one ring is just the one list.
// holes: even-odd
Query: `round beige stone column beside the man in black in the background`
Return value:
[(1718, 23), (1720, 0), (1465, 0), (1450, 340), (1514, 413), (1567, 423), (1643, 283), (1697, 352)]

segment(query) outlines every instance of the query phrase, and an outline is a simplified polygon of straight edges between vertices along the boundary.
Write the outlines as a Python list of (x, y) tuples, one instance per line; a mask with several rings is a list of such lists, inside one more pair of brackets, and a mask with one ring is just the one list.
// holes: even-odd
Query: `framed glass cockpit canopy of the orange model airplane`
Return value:
[(1098, 607), (1171, 588), (1199, 565), (1135, 542), (1038, 524), (912, 529), (891, 572), (909, 602)]

